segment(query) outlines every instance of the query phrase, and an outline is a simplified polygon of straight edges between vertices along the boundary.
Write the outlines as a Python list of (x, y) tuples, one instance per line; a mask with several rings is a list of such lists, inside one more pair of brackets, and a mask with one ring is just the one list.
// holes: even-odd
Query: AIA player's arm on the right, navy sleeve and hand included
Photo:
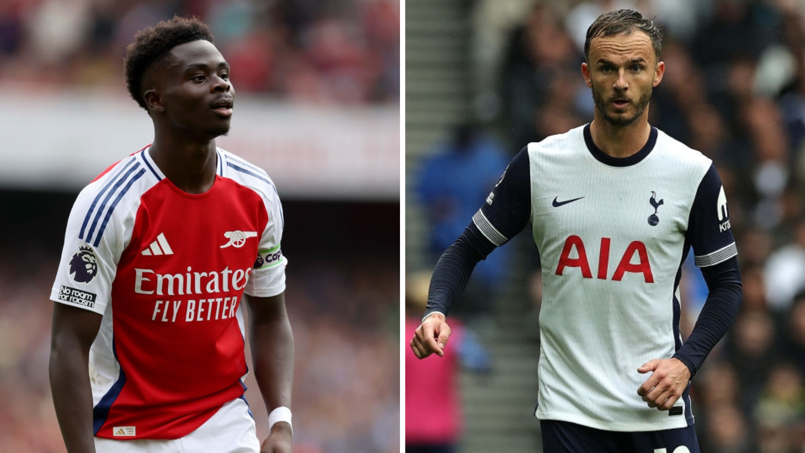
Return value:
[(711, 167), (696, 193), (687, 240), (708, 285), (708, 297), (691, 335), (671, 359), (653, 359), (638, 368), (651, 376), (638, 389), (650, 407), (670, 409), (727, 333), (741, 306), (741, 273), (729, 226), (726, 197), (716, 168)]

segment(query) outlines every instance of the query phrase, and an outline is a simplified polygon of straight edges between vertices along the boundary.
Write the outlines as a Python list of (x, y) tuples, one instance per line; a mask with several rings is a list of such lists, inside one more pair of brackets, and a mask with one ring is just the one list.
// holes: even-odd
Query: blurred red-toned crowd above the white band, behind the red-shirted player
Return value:
[(2, 0), (0, 85), (125, 93), (134, 33), (173, 15), (208, 23), (238, 94), (398, 102), (395, 0)]

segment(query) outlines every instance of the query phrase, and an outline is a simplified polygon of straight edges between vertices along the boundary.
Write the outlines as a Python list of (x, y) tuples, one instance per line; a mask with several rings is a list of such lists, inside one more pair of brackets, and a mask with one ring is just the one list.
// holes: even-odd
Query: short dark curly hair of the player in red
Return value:
[(172, 48), (202, 39), (213, 43), (213, 34), (207, 24), (195, 16), (174, 16), (154, 27), (138, 31), (134, 35), (134, 42), (126, 48), (126, 60), (123, 61), (126, 87), (131, 98), (147, 111), (145, 98), (142, 98), (143, 76), (155, 63), (167, 56)]

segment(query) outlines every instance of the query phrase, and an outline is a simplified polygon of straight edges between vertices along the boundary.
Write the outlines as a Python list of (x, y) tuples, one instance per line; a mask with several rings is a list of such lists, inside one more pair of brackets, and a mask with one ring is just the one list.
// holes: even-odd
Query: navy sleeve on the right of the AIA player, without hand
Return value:
[(724, 186), (711, 166), (702, 179), (691, 207), (686, 242), (693, 247), (696, 266), (708, 285), (708, 297), (691, 335), (675, 358), (691, 370), (691, 376), (727, 333), (741, 306), (741, 272), (737, 247), (729, 222)]

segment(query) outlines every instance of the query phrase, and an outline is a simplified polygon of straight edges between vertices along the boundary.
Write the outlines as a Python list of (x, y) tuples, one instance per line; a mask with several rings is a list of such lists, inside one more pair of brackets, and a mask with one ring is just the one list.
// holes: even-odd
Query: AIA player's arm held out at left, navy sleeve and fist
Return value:
[(530, 219), (530, 163), (527, 148), (514, 156), (486, 203), (456, 242), (436, 262), (427, 293), (423, 322), (414, 332), (411, 349), (423, 359), (444, 355), (450, 336), (446, 316), (464, 292), (476, 264), (517, 235)]

